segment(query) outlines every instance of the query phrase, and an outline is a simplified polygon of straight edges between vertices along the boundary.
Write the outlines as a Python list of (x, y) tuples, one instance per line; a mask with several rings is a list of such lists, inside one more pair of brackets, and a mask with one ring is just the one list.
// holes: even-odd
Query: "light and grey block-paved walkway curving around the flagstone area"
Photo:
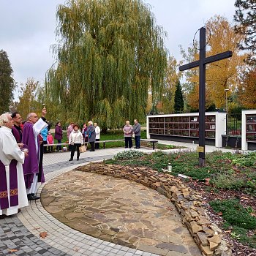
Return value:
[[(170, 141), (164, 143), (172, 143)], [(181, 146), (195, 148), (196, 145), (179, 143)], [(214, 149), (211, 148), (211, 150)], [(216, 148), (215, 148), (216, 149)], [(109, 159), (124, 148), (110, 148), (95, 152), (81, 154), (80, 161), (68, 162), (69, 152), (45, 154), (44, 169), (46, 183), (51, 179), (66, 173), (79, 165), (88, 162)], [(152, 152), (150, 149), (142, 148), (140, 151)], [(169, 150), (170, 151), (170, 150)], [(206, 146), (208, 151), (208, 146)], [(226, 151), (226, 150), (225, 150)], [(232, 151), (232, 150), (227, 150)], [(42, 191), (39, 187), (38, 194)], [(39, 233), (47, 232), (48, 236), (39, 238)], [(59, 222), (42, 208), (39, 200), (32, 201), (28, 207), (23, 208), (19, 214), (12, 217), (0, 219), (0, 256), (1, 255), (144, 255), (154, 254), (131, 249), (126, 246), (102, 241), (97, 238), (80, 233)], [(168, 255), (172, 256), (172, 255)], [(173, 255), (173, 256), (178, 256)]]

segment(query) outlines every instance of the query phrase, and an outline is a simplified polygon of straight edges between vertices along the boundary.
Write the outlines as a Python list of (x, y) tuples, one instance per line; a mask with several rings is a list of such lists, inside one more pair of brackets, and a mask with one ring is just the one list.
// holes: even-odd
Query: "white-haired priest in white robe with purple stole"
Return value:
[(28, 153), (20, 151), (12, 135), (12, 116), (0, 116), (0, 217), (18, 213), (28, 206), (23, 176), (23, 162)]

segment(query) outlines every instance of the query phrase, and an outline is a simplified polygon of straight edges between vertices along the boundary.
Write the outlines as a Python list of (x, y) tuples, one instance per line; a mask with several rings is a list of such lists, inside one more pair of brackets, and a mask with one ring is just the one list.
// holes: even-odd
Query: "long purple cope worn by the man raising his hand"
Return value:
[[(29, 157), (25, 158), (24, 164), (23, 164), (23, 173), (24, 173), (24, 179), (26, 184), (26, 189), (29, 189), (31, 187), (31, 183), (33, 182), (34, 173), (39, 173), (39, 138), (37, 137), (37, 146), (38, 146), (38, 153), (36, 148), (36, 140), (34, 139), (34, 130), (33, 130), (33, 124), (26, 122), (23, 127), (23, 134), (22, 134), (22, 143), (28, 145), (29, 148)], [(41, 169), (41, 168), (40, 168)], [(40, 170), (42, 172), (41, 180), (38, 180), (39, 182), (44, 182), (45, 177), (43, 174), (43, 170)]]

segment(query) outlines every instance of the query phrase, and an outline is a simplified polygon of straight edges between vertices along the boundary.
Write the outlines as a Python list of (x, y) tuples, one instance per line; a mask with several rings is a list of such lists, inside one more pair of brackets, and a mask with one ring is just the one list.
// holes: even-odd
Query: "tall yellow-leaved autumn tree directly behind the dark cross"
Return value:
[[(206, 66), (206, 108), (215, 105), (216, 108), (225, 108), (225, 89), (232, 93), (238, 83), (238, 74), (245, 69), (244, 59), (241, 55), (238, 44), (244, 39), (241, 34), (236, 34), (232, 24), (222, 16), (214, 16), (206, 23), (208, 31), (208, 49), (206, 57), (232, 50), (233, 56), (230, 59), (217, 61)], [(195, 60), (198, 54), (195, 54)], [(198, 109), (198, 75), (188, 78), (190, 83), (195, 84), (192, 93), (188, 95), (188, 103), (193, 109)]]

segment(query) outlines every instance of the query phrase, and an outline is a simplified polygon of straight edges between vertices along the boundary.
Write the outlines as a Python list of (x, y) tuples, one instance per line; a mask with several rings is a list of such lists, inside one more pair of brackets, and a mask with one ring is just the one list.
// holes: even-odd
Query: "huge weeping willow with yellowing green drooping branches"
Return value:
[(65, 121), (145, 121), (148, 91), (154, 100), (162, 95), (167, 65), (165, 32), (149, 7), (140, 0), (69, 0), (57, 18), (46, 92)]

